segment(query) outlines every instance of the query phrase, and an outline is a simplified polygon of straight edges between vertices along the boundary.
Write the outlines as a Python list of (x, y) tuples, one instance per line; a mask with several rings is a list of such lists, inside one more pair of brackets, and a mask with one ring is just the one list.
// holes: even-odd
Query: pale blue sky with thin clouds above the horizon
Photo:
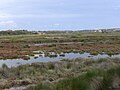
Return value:
[(120, 27), (120, 0), (0, 0), (0, 30)]

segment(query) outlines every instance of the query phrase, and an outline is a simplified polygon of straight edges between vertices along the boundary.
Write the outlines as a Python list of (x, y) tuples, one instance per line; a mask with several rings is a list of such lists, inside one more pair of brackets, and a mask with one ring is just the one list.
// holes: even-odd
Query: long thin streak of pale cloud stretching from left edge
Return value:
[(9, 18), (72, 18), (72, 17), (80, 17), (80, 16), (84, 16), (82, 14), (72, 14), (72, 13), (68, 13), (68, 14), (64, 14), (64, 13), (60, 13), (60, 14), (7, 14), (7, 13), (0, 13), (0, 19), (9, 19)]

